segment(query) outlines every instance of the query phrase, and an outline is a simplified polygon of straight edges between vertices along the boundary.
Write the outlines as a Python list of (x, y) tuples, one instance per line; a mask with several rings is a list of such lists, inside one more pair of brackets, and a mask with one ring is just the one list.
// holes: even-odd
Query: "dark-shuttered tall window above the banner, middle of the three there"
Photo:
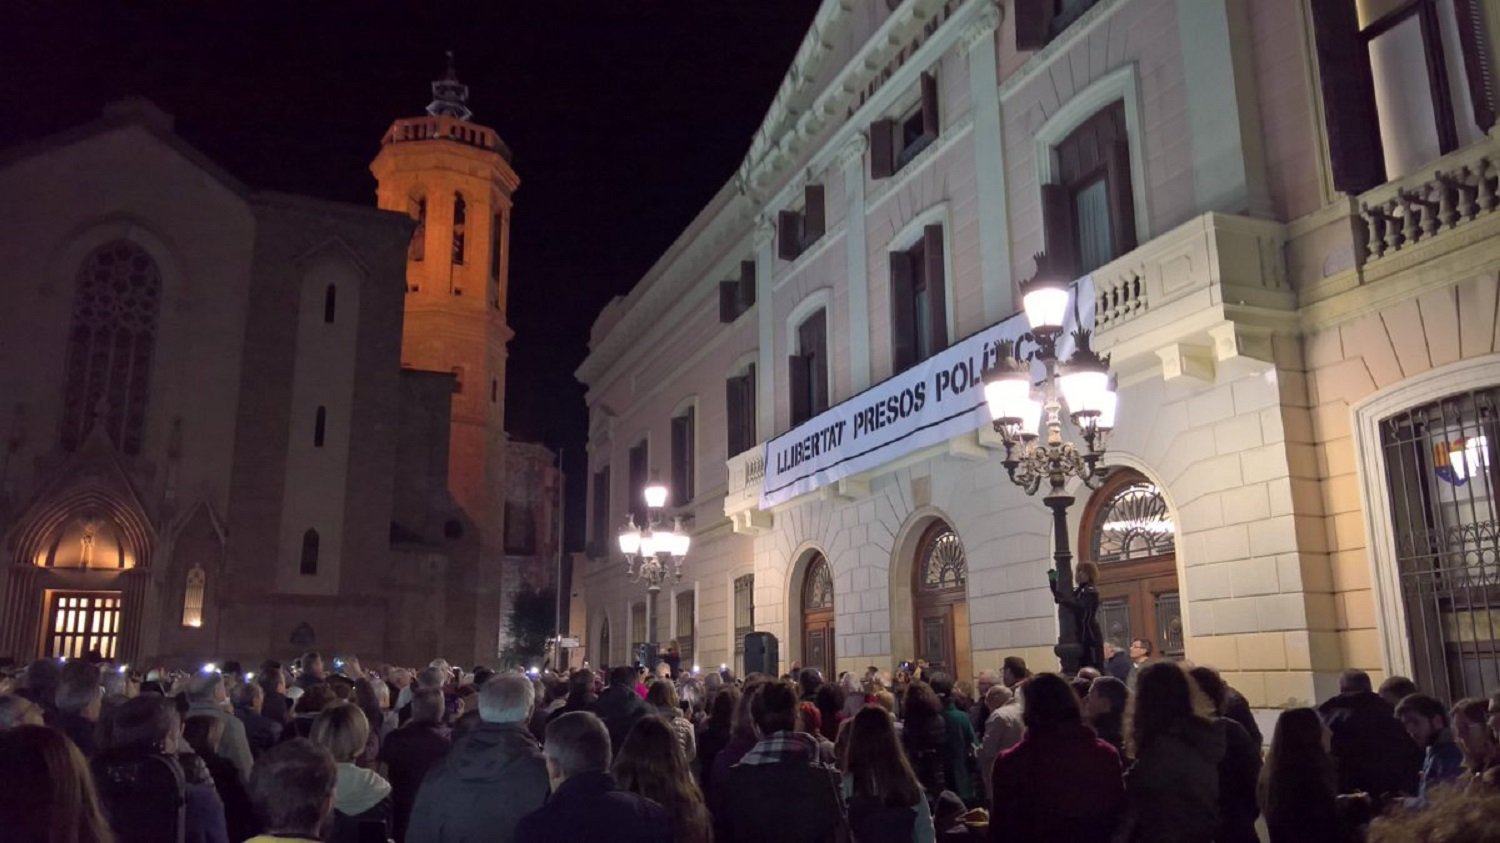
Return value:
[(948, 296), (944, 286), (942, 226), (928, 225), (921, 240), (891, 252), (891, 357), (894, 370), (948, 348)]

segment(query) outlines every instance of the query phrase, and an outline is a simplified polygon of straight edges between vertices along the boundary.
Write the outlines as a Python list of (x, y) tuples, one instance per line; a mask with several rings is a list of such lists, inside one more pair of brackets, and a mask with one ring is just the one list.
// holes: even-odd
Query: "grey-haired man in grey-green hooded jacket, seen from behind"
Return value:
[[(516, 824), (548, 798), (546, 762), (526, 729), (534, 699), (536, 688), (522, 675), (502, 674), (484, 682), (480, 724), (458, 738), (423, 780), (406, 843), (518, 838)], [(496, 798), (500, 794), (504, 798)]]

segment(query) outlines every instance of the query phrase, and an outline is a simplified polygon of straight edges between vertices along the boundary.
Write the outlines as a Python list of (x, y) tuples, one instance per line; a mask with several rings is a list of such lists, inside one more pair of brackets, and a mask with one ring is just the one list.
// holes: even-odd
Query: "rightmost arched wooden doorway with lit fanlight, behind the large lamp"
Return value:
[(1152, 656), (1182, 657), (1174, 528), (1161, 489), (1138, 471), (1116, 468), (1089, 498), (1078, 554), (1100, 566), (1106, 640), (1146, 639)]

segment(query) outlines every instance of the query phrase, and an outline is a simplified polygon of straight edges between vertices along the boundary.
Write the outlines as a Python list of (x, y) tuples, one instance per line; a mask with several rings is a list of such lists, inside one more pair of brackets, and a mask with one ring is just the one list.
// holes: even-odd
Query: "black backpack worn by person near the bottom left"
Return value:
[(94, 783), (118, 843), (183, 843), (188, 786), (177, 760), (156, 753), (105, 753)]

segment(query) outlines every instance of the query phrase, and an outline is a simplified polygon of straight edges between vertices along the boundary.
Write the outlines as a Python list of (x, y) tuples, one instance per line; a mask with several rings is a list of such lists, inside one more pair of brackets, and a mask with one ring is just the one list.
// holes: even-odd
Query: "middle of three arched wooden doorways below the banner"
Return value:
[(969, 674), (969, 558), (963, 542), (944, 520), (922, 531), (912, 566), (912, 608), (916, 658), (930, 670)]

